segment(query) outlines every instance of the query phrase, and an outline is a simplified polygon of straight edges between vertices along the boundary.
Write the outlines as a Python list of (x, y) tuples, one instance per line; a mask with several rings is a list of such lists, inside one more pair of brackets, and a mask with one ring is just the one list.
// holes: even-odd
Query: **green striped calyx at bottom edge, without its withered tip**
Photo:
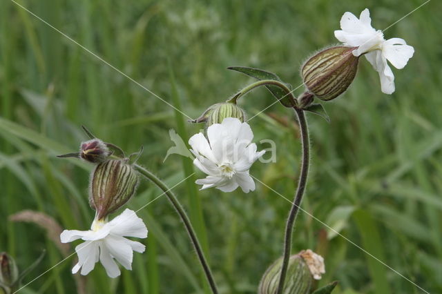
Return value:
[[(303, 251), (301, 251), (302, 253)], [(258, 294), (275, 294), (281, 274), (282, 257), (273, 262), (261, 278)], [(291, 255), (285, 278), (284, 294), (307, 294), (313, 290), (314, 277), (300, 254)]]

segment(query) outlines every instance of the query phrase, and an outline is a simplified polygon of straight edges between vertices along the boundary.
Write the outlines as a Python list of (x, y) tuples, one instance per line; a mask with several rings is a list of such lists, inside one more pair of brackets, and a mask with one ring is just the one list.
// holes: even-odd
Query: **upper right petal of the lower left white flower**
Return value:
[[(118, 215), (111, 222), (104, 225), (108, 227), (112, 235), (126, 237), (147, 237), (147, 228), (143, 220), (135, 214), (135, 211), (126, 208), (121, 215)], [(103, 229), (102, 228), (102, 229)]]

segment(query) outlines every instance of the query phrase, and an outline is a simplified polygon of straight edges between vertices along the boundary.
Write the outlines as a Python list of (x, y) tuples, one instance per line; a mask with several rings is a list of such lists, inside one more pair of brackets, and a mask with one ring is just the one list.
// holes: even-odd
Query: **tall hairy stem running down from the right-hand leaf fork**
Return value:
[(307, 127), (307, 120), (305, 119), (305, 113), (302, 109), (295, 108), (296, 115), (300, 126), (300, 135), (302, 141), (302, 163), (301, 171), (298, 182), (298, 188), (295, 193), (295, 200), (293, 206), (287, 218), (287, 224), (285, 226), (285, 241), (284, 241), (284, 257), (282, 259), (281, 275), (278, 284), (278, 294), (282, 294), (284, 289), (285, 276), (287, 275), (287, 267), (289, 266), (290, 250), (291, 250), (291, 233), (296, 221), (296, 215), (298, 215), (299, 206), (302, 201), (302, 195), (304, 195), (305, 186), (307, 184), (307, 175), (309, 173), (309, 161), (310, 161), (310, 145), (309, 145), (309, 130)]

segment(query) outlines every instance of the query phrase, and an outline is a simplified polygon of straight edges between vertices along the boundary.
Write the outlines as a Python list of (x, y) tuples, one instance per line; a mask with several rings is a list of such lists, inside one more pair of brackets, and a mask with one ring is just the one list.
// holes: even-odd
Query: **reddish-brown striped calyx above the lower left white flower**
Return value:
[(125, 159), (98, 164), (90, 179), (89, 202), (103, 219), (131, 199), (138, 184), (137, 172)]

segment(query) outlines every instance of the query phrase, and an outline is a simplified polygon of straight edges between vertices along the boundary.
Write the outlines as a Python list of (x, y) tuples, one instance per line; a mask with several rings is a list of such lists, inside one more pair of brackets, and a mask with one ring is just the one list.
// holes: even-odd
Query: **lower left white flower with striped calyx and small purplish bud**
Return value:
[(65, 230), (60, 235), (62, 243), (84, 240), (84, 243), (75, 247), (78, 263), (72, 273), (81, 269), (81, 275), (87, 275), (97, 262), (101, 262), (109, 277), (117, 277), (120, 271), (115, 260), (131, 270), (133, 251), (143, 253), (145, 249), (140, 242), (125, 238), (147, 237), (146, 225), (133, 210), (126, 208), (121, 215), (108, 222), (108, 215), (131, 199), (138, 184), (138, 175), (128, 159), (111, 159), (111, 154), (108, 144), (92, 138), (81, 143), (79, 153), (61, 155), (79, 157), (95, 164), (90, 177), (89, 192), (89, 202), (95, 209), (95, 219), (90, 230)]

